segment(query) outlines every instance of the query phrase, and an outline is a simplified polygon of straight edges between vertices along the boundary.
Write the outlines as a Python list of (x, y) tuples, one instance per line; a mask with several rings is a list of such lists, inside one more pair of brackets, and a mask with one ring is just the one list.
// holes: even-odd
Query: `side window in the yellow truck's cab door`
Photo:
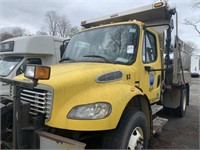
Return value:
[(157, 59), (156, 37), (146, 32), (143, 41), (142, 60), (144, 63), (155, 62)]

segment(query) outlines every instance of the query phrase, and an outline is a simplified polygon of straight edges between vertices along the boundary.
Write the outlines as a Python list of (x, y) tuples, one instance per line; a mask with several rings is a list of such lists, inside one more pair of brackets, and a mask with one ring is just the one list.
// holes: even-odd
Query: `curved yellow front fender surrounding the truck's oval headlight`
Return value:
[[(115, 129), (130, 100), (138, 95), (143, 96), (143, 93), (131, 84), (114, 83), (91, 87), (77, 95), (74, 95), (70, 100), (64, 101), (65, 103), (62, 103), (62, 107), (59, 107), (59, 109), (54, 109), (53, 114), (56, 115), (52, 115), (51, 119), (46, 122), (46, 125), (79, 131), (102, 131)], [(109, 103), (112, 106), (111, 114), (104, 119), (78, 120), (66, 117), (76, 106), (98, 102)], [(82, 125), (80, 126), (80, 124)]]

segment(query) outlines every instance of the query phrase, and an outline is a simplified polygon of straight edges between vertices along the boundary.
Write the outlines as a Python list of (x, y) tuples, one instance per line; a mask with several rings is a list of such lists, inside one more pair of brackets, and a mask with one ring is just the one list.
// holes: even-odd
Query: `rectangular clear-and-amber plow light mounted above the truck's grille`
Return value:
[(29, 79), (48, 80), (51, 68), (47, 66), (27, 65), (24, 76)]

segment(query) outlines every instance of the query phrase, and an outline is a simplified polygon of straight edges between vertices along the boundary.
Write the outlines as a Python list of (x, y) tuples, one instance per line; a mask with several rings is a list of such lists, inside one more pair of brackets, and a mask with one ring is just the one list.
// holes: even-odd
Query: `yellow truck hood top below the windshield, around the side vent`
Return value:
[[(120, 73), (121, 77), (117, 80), (109, 80), (108, 82), (121, 81), (129, 82), (126, 79), (127, 74), (132, 74), (132, 80), (134, 83), (134, 69), (130, 66), (120, 64), (108, 64), (108, 63), (63, 63), (51, 66), (51, 76), (49, 80), (39, 80), (39, 84), (53, 87), (54, 90), (63, 89), (76, 89), (83, 90), (88, 89), (91, 86), (98, 86), (98, 77), (104, 74), (112, 72)], [(101, 84), (104, 82), (101, 82)]]

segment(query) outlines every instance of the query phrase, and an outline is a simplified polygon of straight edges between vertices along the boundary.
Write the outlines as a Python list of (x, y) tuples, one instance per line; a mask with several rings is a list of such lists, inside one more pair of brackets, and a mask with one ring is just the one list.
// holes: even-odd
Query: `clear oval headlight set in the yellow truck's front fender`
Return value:
[(109, 103), (94, 103), (74, 107), (68, 114), (69, 119), (97, 120), (110, 115), (111, 105)]

